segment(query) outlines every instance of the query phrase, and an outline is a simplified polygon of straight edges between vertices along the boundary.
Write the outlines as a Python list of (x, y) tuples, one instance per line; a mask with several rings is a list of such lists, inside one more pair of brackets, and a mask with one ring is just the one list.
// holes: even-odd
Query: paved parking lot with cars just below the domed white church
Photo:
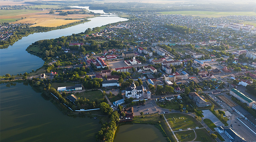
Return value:
[(156, 108), (154, 107), (153, 104), (147, 103), (145, 106), (139, 105), (137, 107), (134, 107), (134, 115), (138, 116), (141, 115), (140, 113), (143, 112), (144, 114), (152, 114), (152, 113), (157, 113)]

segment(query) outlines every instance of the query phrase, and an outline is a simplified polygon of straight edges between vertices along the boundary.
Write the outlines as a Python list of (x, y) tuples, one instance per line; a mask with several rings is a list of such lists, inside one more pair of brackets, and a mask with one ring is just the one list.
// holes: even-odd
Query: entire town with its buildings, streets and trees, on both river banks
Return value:
[[(242, 20), (256, 17), (129, 15), (32, 43), (42, 67), (0, 81), (28, 82), (63, 114), (99, 119), (96, 141), (133, 123), (155, 125), (168, 142), (255, 142), (256, 28)], [(2, 43), (29, 25), (1, 24)]]

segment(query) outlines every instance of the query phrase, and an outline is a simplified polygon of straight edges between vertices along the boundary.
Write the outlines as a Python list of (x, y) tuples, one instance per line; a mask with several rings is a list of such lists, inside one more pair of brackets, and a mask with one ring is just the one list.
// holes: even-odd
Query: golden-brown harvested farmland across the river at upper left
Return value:
[[(66, 11), (79, 11), (80, 9), (73, 10), (62, 10)], [(80, 21), (80, 19), (93, 17), (94, 15), (88, 14), (69, 14), (67, 16), (59, 15), (59, 12), (54, 14), (49, 14), (50, 10), (0, 10), (1, 22), (11, 22), (11, 23), (36, 23), (32, 25), (43, 26), (43, 27), (57, 27), (73, 22)], [(23, 18), (23, 19), (22, 19)], [(71, 18), (73, 20), (66, 20)], [(79, 19), (79, 20), (78, 20)], [(17, 21), (16, 21), (17, 20)]]

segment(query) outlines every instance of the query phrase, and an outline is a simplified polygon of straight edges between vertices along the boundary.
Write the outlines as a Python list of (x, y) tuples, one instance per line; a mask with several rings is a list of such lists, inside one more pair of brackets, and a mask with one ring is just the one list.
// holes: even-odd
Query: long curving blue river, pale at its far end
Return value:
[(44, 61), (26, 51), (29, 45), (38, 40), (53, 39), (72, 35), (73, 33), (81, 33), (87, 28), (100, 27), (109, 23), (126, 21), (127, 19), (118, 16), (100, 16), (89, 18), (89, 20), (91, 21), (65, 29), (30, 34), (15, 42), (13, 45), (10, 45), (8, 48), (0, 49), (0, 75), (5, 75), (6, 73), (10, 73), (10, 75), (23, 74), (25, 72), (29, 73), (32, 70), (42, 67)]

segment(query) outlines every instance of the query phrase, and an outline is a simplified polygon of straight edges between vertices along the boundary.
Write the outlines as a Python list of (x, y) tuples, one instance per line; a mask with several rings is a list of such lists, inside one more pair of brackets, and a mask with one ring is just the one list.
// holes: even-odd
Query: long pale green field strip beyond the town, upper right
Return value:
[(181, 15), (192, 15), (200, 17), (221, 17), (228, 15), (248, 15), (256, 16), (256, 13), (251, 12), (216, 12), (216, 11), (166, 11), (161, 12), (161, 14), (181, 14)]

